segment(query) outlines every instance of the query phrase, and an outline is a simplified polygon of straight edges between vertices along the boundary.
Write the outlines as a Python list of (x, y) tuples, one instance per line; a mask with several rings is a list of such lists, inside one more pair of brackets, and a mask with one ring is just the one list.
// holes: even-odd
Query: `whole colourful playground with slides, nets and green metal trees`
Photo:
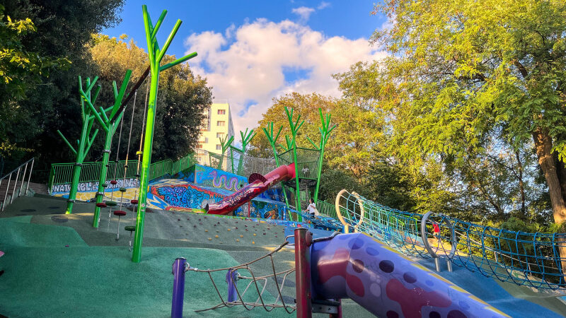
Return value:
[[(316, 137), (284, 107), (287, 133), (270, 122), (239, 144), (220, 137), (219, 153), (152, 162), (160, 73), (198, 56), (164, 64), (181, 21), (159, 44), (167, 11), (142, 13), (150, 65), (135, 84), (128, 70), (105, 108), (98, 77), (77, 78), (81, 135), (57, 131), (69, 163), (45, 184), (30, 182), (35, 159), (0, 176), (0, 317), (564, 317), (566, 233), (400, 211), (351, 189), (320, 200), (337, 127), (322, 108)], [(258, 134), (272, 158), (249, 154)]]

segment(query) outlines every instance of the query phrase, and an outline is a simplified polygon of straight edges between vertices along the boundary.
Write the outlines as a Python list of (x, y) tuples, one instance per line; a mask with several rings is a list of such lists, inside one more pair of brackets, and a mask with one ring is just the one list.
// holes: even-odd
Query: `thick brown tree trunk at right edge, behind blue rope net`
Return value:
[[(566, 206), (562, 197), (562, 187), (558, 179), (558, 169), (554, 159), (552, 149), (553, 141), (545, 129), (536, 129), (533, 132), (533, 141), (535, 143), (535, 151), (538, 158), (538, 164), (541, 165), (546, 184), (548, 185), (548, 194), (550, 194), (550, 203), (553, 207), (553, 216), (555, 223), (562, 223), (566, 220)], [(562, 265), (562, 273), (566, 274), (566, 240), (557, 239), (558, 251), (560, 252), (560, 261)]]

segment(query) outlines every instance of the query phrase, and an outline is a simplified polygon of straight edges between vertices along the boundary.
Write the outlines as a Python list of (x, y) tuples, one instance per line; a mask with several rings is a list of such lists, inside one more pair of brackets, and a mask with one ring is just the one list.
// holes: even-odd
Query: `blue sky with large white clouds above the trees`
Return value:
[(372, 1), (127, 0), (122, 23), (103, 33), (127, 34), (146, 48), (144, 3), (154, 22), (168, 10), (160, 44), (183, 21), (167, 53), (199, 53), (189, 64), (207, 77), (215, 98), (229, 100), (236, 131), (255, 127), (271, 99), (284, 93), (340, 95), (332, 73), (383, 55), (367, 42), (386, 22), (370, 16)]

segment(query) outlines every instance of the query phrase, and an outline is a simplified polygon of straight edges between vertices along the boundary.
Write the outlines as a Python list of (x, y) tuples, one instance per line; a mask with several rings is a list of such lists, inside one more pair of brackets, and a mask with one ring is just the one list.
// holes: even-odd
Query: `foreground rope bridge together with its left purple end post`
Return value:
[[(222, 269), (197, 269), (191, 267), (185, 262), (185, 259), (177, 259), (173, 264), (173, 274), (175, 275), (175, 283), (173, 286), (173, 305), (171, 310), (171, 317), (182, 317), (183, 315), (183, 293), (184, 293), (184, 281), (185, 272), (194, 271), (196, 273), (207, 273), (214, 290), (220, 302), (212, 307), (205, 308), (202, 310), (195, 310), (195, 312), (205, 312), (207, 310), (216, 310), (222, 307), (234, 307), (243, 306), (246, 310), (253, 310), (255, 307), (262, 307), (265, 311), (271, 312), (275, 308), (284, 308), (287, 313), (291, 314), (296, 310), (295, 304), (289, 304), (285, 302), (284, 295), (282, 294), (282, 289), (287, 281), (289, 274), (295, 272), (295, 267), (291, 267), (284, 271), (276, 271), (275, 261), (273, 260), (274, 254), (281, 251), (285, 246), (289, 245), (287, 239), (282, 245), (279, 245), (272, 252), (254, 259), (253, 261), (248, 261), (244, 264), (239, 264), (237, 266), (226, 267)], [(262, 259), (269, 259), (271, 263), (271, 273), (265, 276), (256, 276), (251, 265), (261, 261)], [(178, 264), (179, 263), (179, 264)], [(219, 285), (214, 281), (212, 273), (226, 271), (226, 284), (228, 286), (228, 295), (223, 297), (219, 289)], [(248, 271), (249, 276), (243, 276), (238, 271)], [(282, 278), (281, 283), (279, 283), (277, 278)], [(246, 281), (246, 288), (238, 288), (238, 281)], [(274, 302), (267, 302), (266, 295), (264, 295), (267, 290), (267, 283), (269, 281), (275, 282), (275, 288), (277, 289), (277, 298)], [(253, 292), (255, 290), (255, 293)], [(251, 295), (250, 295), (251, 294)], [(269, 296), (271, 294), (267, 292)], [(257, 298), (256, 298), (257, 295)], [(255, 299), (255, 301), (246, 301), (246, 299)]]

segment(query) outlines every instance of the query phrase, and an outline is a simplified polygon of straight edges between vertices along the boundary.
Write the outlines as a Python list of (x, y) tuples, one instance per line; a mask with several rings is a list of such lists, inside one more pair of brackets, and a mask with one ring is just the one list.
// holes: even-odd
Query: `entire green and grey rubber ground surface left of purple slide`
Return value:
[[(108, 226), (108, 211), (103, 213), (100, 223), (105, 226), (96, 230), (91, 227), (92, 213), (87, 213), (92, 211), (93, 204), (77, 205), (74, 211), (82, 213), (70, 216), (61, 214), (65, 204), (63, 200), (45, 197), (18, 198), (0, 215), (0, 250), (6, 252), (0, 258), (0, 269), (5, 271), (0, 276), (0, 315), (169, 317), (173, 289), (171, 265), (175, 258), (185, 257), (191, 266), (199, 269), (234, 266), (265, 255), (284, 239), (279, 234), (282, 227), (273, 225), (156, 211), (146, 213), (142, 259), (134, 264), (127, 247), (129, 232), (120, 232), (120, 240), (116, 241), (117, 223), (111, 218)], [(248, 226), (242, 227), (244, 223)], [(122, 230), (125, 225), (130, 224), (122, 219)], [(219, 238), (208, 240), (210, 235), (203, 235), (206, 229)], [(231, 244), (227, 244), (229, 241)], [(294, 266), (293, 249), (276, 255), (277, 271)], [(272, 271), (268, 259), (251, 269), (256, 276)], [(249, 272), (241, 271), (241, 274), (247, 276)], [(223, 297), (225, 275), (219, 272), (213, 276)], [(219, 298), (206, 273), (189, 271), (185, 281), (184, 317), (295, 316), (282, 309), (267, 313), (260, 308), (246, 311), (243, 307), (196, 313), (195, 310), (218, 304)], [(279, 283), (283, 283), (281, 278)], [(238, 284), (241, 286), (245, 287)], [(286, 302), (293, 302), (294, 287), (294, 275), (289, 275), (282, 290)], [(272, 281), (266, 290), (263, 295), (267, 301), (275, 300), (273, 295), (277, 295), (277, 290)], [(246, 297), (246, 301), (256, 299), (257, 293)], [(343, 310), (345, 317), (372, 317), (350, 300), (344, 300)], [(314, 317), (328, 315), (314, 314)]]

